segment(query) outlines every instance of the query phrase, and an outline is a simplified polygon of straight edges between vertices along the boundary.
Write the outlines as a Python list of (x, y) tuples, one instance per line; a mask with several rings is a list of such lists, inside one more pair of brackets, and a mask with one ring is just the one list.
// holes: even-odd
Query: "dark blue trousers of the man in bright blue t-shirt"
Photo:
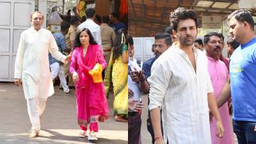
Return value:
[(256, 144), (256, 122), (233, 120), (238, 144)]

